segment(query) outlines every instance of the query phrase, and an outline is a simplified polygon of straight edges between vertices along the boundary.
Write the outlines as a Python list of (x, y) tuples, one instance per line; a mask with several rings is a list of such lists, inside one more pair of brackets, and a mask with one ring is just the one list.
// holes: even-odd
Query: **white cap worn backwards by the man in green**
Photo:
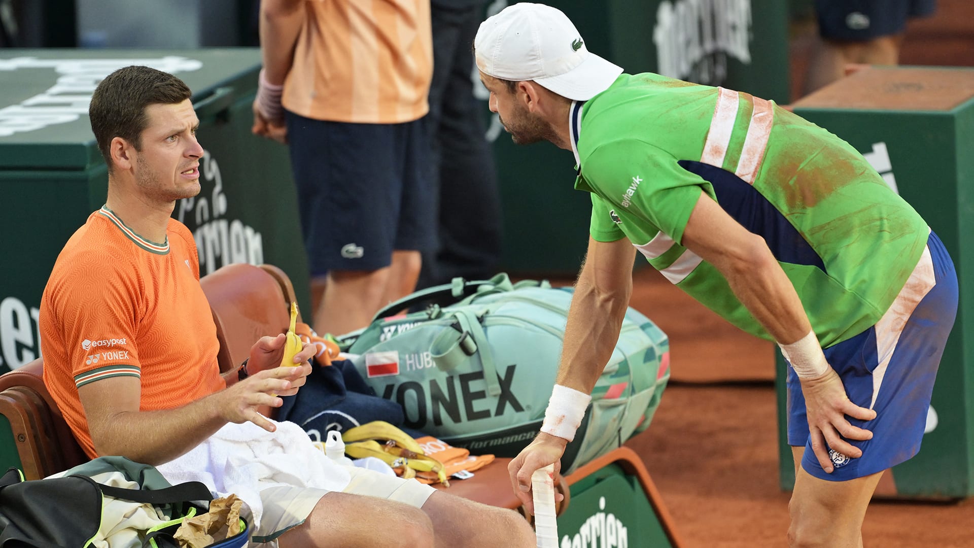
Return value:
[(521, 2), (480, 23), (473, 40), (477, 68), (488, 76), (534, 80), (565, 98), (604, 92), (622, 67), (590, 53), (561, 10)]

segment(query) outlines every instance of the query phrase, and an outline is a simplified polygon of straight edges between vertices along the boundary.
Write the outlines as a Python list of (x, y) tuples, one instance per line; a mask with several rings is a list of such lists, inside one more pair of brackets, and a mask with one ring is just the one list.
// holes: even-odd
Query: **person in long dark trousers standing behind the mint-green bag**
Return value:
[[(418, 287), (481, 280), (501, 262), (501, 195), (470, 46), (486, 0), (432, 0), (430, 131), (439, 197), (439, 247), (423, 255)], [(480, 85), (477, 81), (476, 85)]]

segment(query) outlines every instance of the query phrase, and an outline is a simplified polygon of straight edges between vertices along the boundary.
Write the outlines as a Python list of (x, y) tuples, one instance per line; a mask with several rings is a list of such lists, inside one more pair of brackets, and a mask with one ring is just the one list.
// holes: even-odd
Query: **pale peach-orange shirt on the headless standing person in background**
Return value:
[(430, 0), (305, 0), (284, 108), (305, 118), (399, 124), (430, 110)]

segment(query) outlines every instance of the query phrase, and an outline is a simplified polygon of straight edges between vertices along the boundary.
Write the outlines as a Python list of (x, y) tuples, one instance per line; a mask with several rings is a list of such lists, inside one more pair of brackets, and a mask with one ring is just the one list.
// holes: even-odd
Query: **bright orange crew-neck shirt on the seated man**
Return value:
[(140, 411), (176, 408), (225, 387), (196, 243), (175, 219), (158, 244), (106, 207), (90, 215), (57, 255), (39, 324), (44, 383), (91, 457), (80, 386), (137, 377)]

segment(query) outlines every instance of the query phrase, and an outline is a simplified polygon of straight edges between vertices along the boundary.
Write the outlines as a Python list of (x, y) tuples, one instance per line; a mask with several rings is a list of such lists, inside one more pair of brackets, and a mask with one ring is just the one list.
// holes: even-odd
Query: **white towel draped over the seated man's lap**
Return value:
[(251, 423), (228, 423), (186, 454), (156, 468), (170, 484), (202, 482), (214, 497), (235, 493), (250, 508), (252, 528), (260, 527), (260, 491), (296, 486), (341, 491), (348, 470), (316, 448), (293, 422), (277, 422), (276, 432)]

